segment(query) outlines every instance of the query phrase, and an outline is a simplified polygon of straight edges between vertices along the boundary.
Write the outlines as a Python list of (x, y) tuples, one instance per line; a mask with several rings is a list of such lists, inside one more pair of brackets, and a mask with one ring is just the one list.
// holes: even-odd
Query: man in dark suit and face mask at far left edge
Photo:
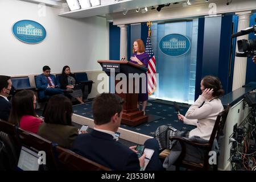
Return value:
[(0, 75), (0, 119), (8, 121), (11, 103), (7, 99), (11, 90), (11, 77)]

